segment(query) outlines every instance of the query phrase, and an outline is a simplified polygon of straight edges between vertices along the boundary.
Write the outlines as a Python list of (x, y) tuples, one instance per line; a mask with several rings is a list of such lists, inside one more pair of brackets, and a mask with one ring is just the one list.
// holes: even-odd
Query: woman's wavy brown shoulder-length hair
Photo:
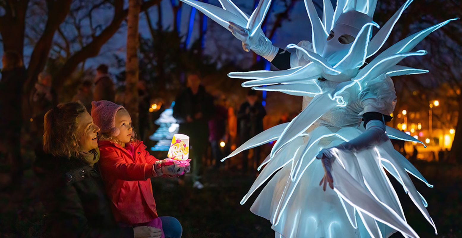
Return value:
[(77, 119), (85, 112), (79, 101), (50, 109), (44, 117), (43, 151), (55, 157), (79, 157)]

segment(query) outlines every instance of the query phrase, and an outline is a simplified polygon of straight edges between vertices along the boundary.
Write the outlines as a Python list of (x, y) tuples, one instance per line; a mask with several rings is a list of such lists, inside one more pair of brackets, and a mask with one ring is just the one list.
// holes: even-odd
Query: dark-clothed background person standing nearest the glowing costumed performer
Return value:
[[(247, 101), (240, 106), (237, 113), (237, 126), (241, 144), (263, 131), (263, 117), (265, 115), (266, 110), (261, 102), (258, 101), (256, 91), (250, 89), (247, 93)], [(242, 169), (244, 172), (247, 172), (248, 151), (244, 150), (242, 152)], [(254, 163), (256, 166), (260, 163), (260, 147), (253, 148), (253, 154), (252, 169), (254, 169)]]

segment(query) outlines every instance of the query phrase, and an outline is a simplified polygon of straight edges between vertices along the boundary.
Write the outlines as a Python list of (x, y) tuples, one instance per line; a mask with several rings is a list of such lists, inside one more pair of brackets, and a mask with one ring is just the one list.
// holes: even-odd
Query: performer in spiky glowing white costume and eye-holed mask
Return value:
[[(322, 19), (313, 2), (304, 0), (311, 42), (287, 45), (295, 49), (293, 53), (274, 47), (260, 29), (271, 0), (261, 0), (251, 16), (231, 0), (219, 0), (222, 8), (182, 1), (228, 28), (243, 42), (244, 50), (253, 50), (281, 69), (232, 72), (231, 78), (249, 79), (242, 86), (255, 90), (303, 96), (303, 110), (291, 122), (261, 132), (226, 157), (277, 140), (241, 201), (267, 182), (250, 210), (273, 224), (276, 237), (383, 238), (396, 231), (406, 238), (419, 237), (407, 224), (385, 170), (401, 183), (437, 232), (426, 200), (408, 173), (432, 185), (394, 150), (389, 138), (421, 142), (384, 123), (391, 119), (396, 102), (390, 76), (428, 72), (397, 63), (407, 56), (425, 55), (425, 50), (410, 50), (454, 19), (401, 40), (365, 64), (383, 46), (412, 0), (374, 37), (372, 27), (379, 27), (372, 21), (377, 0), (338, 0), (335, 10), (330, 0), (323, 0)], [(322, 191), (321, 178), (324, 189), (327, 184), (333, 189)]]

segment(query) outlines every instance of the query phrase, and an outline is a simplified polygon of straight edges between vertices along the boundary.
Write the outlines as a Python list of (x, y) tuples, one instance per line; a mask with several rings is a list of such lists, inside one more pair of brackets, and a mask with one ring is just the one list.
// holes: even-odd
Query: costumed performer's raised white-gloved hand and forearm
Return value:
[(242, 48), (245, 51), (249, 52), (249, 50), (252, 50), (255, 54), (267, 59), (269, 62), (273, 61), (279, 48), (271, 44), (268, 38), (260, 34), (250, 36), (249, 29), (243, 28), (231, 21), (229, 24), (228, 29), (232, 32), (234, 37), (242, 41)]

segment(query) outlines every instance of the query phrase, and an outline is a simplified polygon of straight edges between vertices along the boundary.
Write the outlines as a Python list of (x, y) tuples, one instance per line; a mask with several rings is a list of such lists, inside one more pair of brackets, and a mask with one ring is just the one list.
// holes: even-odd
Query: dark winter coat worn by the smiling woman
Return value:
[(116, 225), (97, 170), (75, 157), (36, 154), (34, 171), (48, 213), (43, 237), (133, 238), (133, 228)]

